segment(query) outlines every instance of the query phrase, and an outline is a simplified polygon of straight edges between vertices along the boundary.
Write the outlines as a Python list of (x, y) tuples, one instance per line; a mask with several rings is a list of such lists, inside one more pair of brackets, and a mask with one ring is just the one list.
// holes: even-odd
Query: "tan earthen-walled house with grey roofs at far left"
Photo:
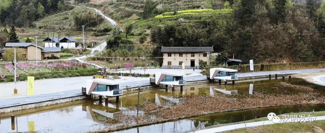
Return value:
[[(60, 58), (61, 49), (58, 47), (55, 48), (45, 48), (41, 46), (36, 46), (32, 43), (6, 43), (6, 47), (17, 47), (22, 50), (23, 57), (26, 57), (27, 60), (36, 60), (36, 48), (37, 48), (37, 59), (45, 59), (46, 57), (56, 56)], [(6, 53), (6, 50), (4, 51)]]

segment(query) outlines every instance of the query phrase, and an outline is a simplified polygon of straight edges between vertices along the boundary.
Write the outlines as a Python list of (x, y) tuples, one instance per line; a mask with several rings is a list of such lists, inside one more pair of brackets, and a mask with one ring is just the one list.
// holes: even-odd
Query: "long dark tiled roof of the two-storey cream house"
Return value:
[(161, 52), (213, 52), (213, 47), (162, 47)]

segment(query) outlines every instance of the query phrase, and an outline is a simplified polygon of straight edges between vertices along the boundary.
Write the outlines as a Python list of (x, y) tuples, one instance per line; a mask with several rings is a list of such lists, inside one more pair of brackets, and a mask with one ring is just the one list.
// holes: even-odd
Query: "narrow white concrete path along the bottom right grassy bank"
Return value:
[[(315, 120), (325, 120), (325, 116), (319, 116), (319, 117), (313, 117), (313, 121)], [(285, 121), (285, 122), (284, 122)], [(307, 117), (305, 119), (300, 119), (298, 117), (298, 120), (294, 121), (301, 121), (301, 122), (310, 122), (308, 121)], [(256, 126), (263, 126), (263, 125), (270, 125), (270, 124), (281, 124), (281, 123), (289, 123), (293, 122), (290, 118), (288, 121), (281, 119), (279, 123), (274, 123), (273, 121), (258, 121), (258, 122), (250, 122), (250, 123), (241, 123), (241, 124), (235, 124), (235, 125), (228, 125), (228, 126), (222, 126), (222, 127), (216, 127), (216, 128), (209, 128), (209, 129), (203, 129), (198, 131), (193, 131), (190, 133), (216, 133), (216, 132), (224, 132), (224, 131), (230, 131), (230, 130), (236, 130), (240, 128), (249, 128), (249, 127), (256, 127)]]

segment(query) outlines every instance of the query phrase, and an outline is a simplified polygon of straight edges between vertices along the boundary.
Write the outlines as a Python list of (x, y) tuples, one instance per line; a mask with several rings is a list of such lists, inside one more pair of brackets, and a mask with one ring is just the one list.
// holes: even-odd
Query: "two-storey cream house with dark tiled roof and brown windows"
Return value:
[(199, 68), (199, 60), (209, 65), (209, 58), (214, 56), (213, 47), (162, 47), (162, 68)]

